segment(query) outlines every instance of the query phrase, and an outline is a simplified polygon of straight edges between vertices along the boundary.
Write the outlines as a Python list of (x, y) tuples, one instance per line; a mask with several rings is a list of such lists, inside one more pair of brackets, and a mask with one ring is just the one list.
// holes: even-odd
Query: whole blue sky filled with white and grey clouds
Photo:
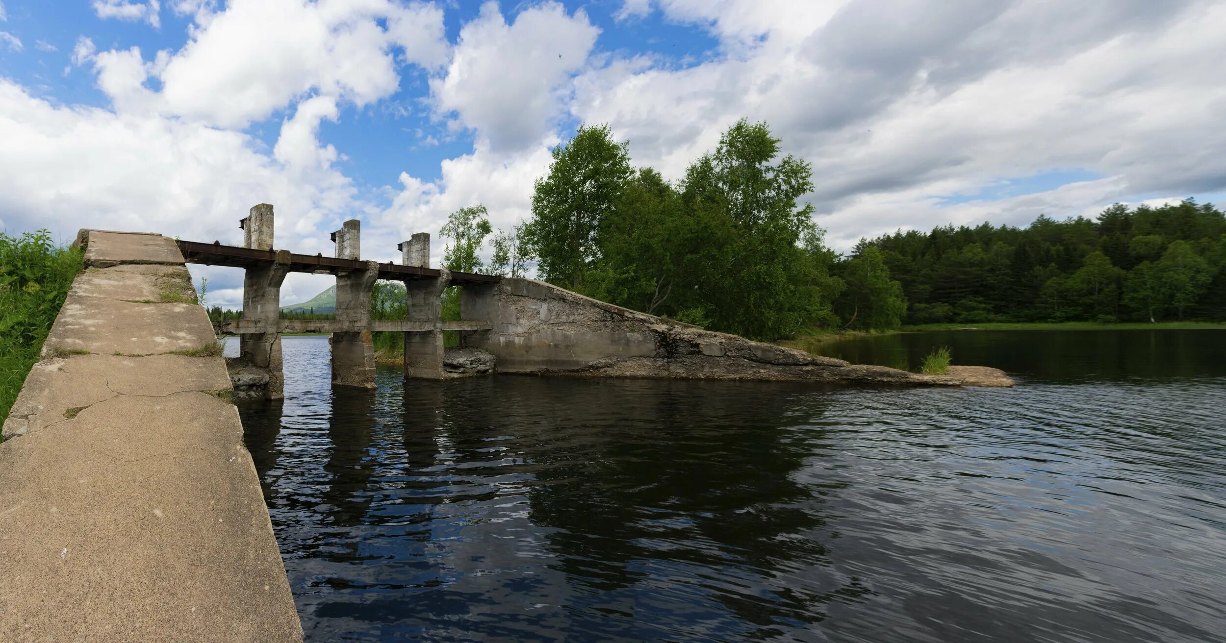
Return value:
[[(677, 180), (741, 118), (813, 165), (828, 243), (1226, 194), (1226, 2), (0, 0), (0, 229), (363, 258), (608, 124)], [(242, 271), (191, 267), (238, 306)], [(286, 304), (331, 285), (292, 274)]]

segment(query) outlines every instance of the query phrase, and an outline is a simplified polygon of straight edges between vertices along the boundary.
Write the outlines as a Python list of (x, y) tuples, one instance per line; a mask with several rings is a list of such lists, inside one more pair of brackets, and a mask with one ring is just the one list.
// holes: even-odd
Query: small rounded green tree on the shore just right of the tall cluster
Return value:
[(847, 323), (866, 331), (888, 331), (902, 325), (907, 300), (902, 284), (890, 279), (890, 271), (874, 245), (859, 250), (841, 269), (847, 284), (840, 312)]

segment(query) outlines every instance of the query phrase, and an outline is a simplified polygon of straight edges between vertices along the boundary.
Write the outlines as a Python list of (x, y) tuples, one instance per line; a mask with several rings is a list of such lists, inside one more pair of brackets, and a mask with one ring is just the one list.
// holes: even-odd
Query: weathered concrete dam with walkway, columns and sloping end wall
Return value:
[[(332, 385), (375, 382), (373, 332), (405, 333), (405, 378), (478, 374), (1009, 386), (994, 369), (924, 376), (851, 365), (622, 309), (522, 278), (430, 268), (429, 235), (401, 263), (273, 249), (272, 206), (243, 246), (82, 230), (85, 271), (0, 443), (0, 639), (299, 641), (237, 399), (283, 396), (281, 333), (331, 333)], [(210, 322), (185, 263), (245, 271), (243, 318)], [(336, 276), (336, 318), (280, 318), (289, 272)], [(405, 320), (373, 321), (376, 279), (402, 282)], [(460, 287), (460, 320), (441, 318)], [(444, 332), (460, 348), (444, 347)], [(218, 333), (240, 337), (224, 360)], [(411, 386), (406, 383), (406, 386)]]

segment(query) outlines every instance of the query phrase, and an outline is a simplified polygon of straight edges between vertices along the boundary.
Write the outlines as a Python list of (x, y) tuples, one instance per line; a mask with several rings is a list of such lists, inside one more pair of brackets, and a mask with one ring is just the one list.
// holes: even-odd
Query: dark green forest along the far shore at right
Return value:
[[(1226, 217), (1192, 200), (862, 244), (902, 284), (907, 323), (1226, 318)], [(842, 301), (836, 310), (846, 316)]]

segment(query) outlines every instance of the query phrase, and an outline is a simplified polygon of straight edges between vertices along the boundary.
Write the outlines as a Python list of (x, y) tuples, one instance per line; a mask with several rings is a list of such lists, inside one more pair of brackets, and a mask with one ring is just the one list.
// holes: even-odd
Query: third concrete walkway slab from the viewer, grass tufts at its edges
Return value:
[(151, 355), (217, 343), (204, 306), (132, 304), (69, 293), (43, 344), (43, 359), (75, 352)]

